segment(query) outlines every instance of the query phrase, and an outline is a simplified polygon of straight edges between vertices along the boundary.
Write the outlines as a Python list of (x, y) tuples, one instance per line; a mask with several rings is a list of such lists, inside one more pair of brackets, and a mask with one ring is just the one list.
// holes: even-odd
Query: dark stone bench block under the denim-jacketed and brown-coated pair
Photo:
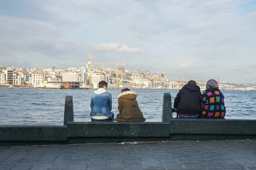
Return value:
[(169, 122), (68, 122), (67, 137), (169, 137)]

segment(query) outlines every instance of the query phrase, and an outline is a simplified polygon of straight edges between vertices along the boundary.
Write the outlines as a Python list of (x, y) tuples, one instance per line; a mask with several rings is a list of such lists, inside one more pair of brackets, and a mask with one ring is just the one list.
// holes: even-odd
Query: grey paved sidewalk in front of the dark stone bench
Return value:
[(256, 170), (256, 141), (0, 147), (0, 170)]

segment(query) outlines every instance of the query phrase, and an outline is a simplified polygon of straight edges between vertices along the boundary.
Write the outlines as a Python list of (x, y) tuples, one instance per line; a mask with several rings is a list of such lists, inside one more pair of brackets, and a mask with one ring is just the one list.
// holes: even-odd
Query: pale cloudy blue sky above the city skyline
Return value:
[[(126, 63), (256, 84), (256, 0), (1, 0), (0, 65)], [(94, 65), (115, 68), (115, 65)]]

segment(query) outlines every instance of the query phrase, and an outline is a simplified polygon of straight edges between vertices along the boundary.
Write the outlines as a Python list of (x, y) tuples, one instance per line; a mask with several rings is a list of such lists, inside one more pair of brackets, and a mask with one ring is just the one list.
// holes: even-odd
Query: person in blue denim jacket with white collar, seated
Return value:
[(107, 92), (108, 83), (105, 81), (99, 82), (99, 89), (93, 92), (91, 98), (90, 116), (92, 120), (112, 120), (114, 113), (112, 110), (112, 95)]

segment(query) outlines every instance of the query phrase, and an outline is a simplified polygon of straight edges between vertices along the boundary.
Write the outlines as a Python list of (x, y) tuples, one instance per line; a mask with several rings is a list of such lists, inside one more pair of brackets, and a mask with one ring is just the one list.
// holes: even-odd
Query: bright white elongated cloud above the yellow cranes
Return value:
[(121, 51), (121, 52), (138, 52), (138, 51), (146, 51), (140, 47), (129, 47), (128, 45), (122, 45), (119, 47), (118, 44), (113, 43), (102, 43), (95, 45), (94, 48), (96, 50), (105, 50), (105, 51)]

